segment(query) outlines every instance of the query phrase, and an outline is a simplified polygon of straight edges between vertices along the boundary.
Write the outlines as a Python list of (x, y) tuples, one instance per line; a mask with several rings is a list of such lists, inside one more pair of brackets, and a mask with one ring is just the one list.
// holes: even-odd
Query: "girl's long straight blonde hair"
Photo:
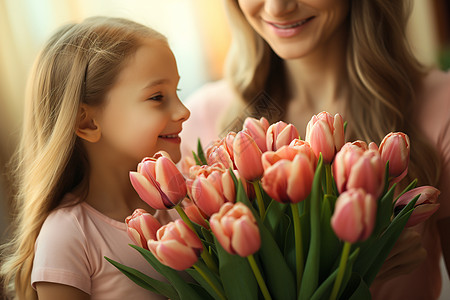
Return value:
[[(12, 161), (16, 220), (2, 246), (4, 285), (19, 299), (31, 287), (34, 244), (41, 226), (65, 193), (87, 189), (89, 164), (76, 136), (80, 105), (101, 105), (124, 61), (144, 39), (160, 33), (121, 18), (91, 17), (61, 27), (38, 56), (25, 98), (22, 138)], [(83, 189), (84, 187), (84, 189)]]

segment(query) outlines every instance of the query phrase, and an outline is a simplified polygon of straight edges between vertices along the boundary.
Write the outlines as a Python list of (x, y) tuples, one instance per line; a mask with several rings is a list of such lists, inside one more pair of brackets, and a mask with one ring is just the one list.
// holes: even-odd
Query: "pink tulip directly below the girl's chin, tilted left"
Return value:
[(142, 200), (155, 209), (168, 209), (186, 197), (186, 182), (173, 161), (163, 152), (144, 158), (130, 180)]

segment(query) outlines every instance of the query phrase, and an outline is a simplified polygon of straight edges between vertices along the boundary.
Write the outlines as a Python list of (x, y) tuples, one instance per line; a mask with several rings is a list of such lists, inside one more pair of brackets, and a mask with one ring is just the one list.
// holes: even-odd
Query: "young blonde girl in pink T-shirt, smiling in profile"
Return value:
[(161, 279), (131, 247), (129, 180), (159, 150), (180, 159), (189, 111), (164, 36), (119, 18), (62, 27), (36, 61), (17, 153), (18, 218), (4, 246), (5, 284), (19, 299), (160, 299), (104, 256)]

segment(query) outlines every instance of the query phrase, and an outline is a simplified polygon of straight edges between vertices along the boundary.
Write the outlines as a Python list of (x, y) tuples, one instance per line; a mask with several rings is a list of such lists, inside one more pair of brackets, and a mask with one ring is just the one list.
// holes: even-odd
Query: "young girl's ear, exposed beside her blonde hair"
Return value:
[(76, 135), (91, 143), (96, 143), (100, 140), (102, 132), (100, 126), (94, 119), (95, 108), (86, 104), (81, 104), (78, 112), (78, 126)]

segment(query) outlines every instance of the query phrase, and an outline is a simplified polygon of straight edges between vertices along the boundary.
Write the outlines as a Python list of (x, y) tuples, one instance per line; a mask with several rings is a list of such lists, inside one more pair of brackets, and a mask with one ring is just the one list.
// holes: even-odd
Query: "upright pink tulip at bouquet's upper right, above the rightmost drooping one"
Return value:
[(391, 132), (381, 141), (381, 160), (384, 164), (389, 161), (389, 177), (398, 182), (408, 173), (410, 143), (409, 138), (402, 132)]

